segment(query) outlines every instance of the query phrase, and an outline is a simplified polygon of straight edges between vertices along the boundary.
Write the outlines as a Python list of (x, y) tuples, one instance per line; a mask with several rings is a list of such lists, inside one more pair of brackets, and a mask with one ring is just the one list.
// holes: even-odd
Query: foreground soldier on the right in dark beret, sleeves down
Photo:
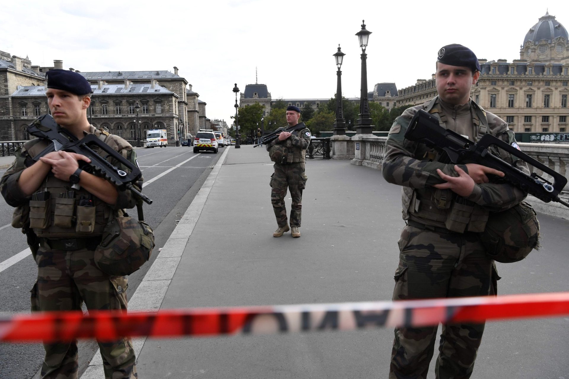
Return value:
[[(405, 139), (413, 115), (424, 109), (444, 128), (478, 140), (485, 133), (513, 144), (514, 134), (498, 116), (470, 99), (480, 76), (474, 53), (457, 44), (439, 50), (436, 63), (438, 96), (405, 110), (395, 119), (386, 142), (382, 173), (403, 186), (403, 228), (394, 300), (497, 294), (500, 277), (480, 242), (489, 211), (517, 205), (526, 193), (507, 183), (490, 183), (488, 175), (503, 173), (477, 164), (448, 164), (445, 156)], [(513, 157), (496, 151), (502, 159)], [(521, 163), (522, 161), (518, 161)], [(518, 168), (527, 170), (525, 164)], [(395, 329), (389, 378), (427, 377), (437, 327)], [(444, 324), (435, 377), (469, 378), (484, 324)]]

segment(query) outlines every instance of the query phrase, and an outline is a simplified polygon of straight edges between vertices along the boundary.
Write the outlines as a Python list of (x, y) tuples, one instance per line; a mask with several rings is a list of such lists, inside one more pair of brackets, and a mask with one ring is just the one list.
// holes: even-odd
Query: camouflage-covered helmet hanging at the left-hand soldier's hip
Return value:
[(150, 259), (153, 248), (154, 232), (149, 224), (124, 213), (106, 224), (94, 260), (106, 274), (130, 275)]

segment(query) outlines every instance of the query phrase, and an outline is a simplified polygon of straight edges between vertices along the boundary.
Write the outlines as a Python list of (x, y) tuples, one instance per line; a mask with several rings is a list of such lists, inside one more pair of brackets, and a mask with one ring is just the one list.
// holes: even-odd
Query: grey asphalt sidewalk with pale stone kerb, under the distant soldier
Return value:
[[(269, 187), (273, 163), (266, 150), (242, 145), (220, 153), (137, 291), (130, 294), (129, 312), (391, 298), (397, 240), (404, 226), (401, 188), (387, 184), (379, 170), (349, 160), (308, 160), (302, 237), (293, 239), (287, 232), (273, 238), (277, 228)], [(288, 195), (286, 206), (290, 214)], [(568, 261), (559, 231), (569, 230), (569, 222), (545, 215), (540, 222), (546, 238), (542, 249), (522, 263), (500, 265), (501, 276), (507, 278), (500, 282), (501, 294), (566, 290), (567, 280), (562, 278)], [(549, 263), (543, 262), (545, 258)], [(531, 280), (529, 270), (534, 274)], [(521, 361), (537, 368), (545, 356), (561, 363), (566, 342), (558, 331), (563, 325), (563, 319), (487, 324), (473, 379), (493, 373), (509, 377), (509, 368)], [(542, 335), (548, 337), (537, 350), (523, 348), (522, 340), (538, 341)], [(516, 349), (519, 355), (504, 350), (505, 340), (521, 346)], [(142, 378), (324, 379), (385, 377), (392, 342), (393, 330), (377, 329), (139, 338), (133, 345)], [(509, 364), (502, 367), (501, 361)], [(81, 378), (101, 377), (97, 352)]]

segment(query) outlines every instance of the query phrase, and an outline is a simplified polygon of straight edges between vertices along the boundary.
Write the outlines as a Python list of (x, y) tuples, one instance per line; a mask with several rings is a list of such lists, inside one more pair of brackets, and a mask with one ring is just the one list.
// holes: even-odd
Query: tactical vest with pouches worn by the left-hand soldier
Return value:
[[(130, 145), (117, 136), (91, 126), (90, 132), (126, 158), (126, 147)], [(34, 139), (24, 143), (24, 148), (34, 157), (49, 145), (46, 140)], [(93, 150), (97, 153), (98, 147)], [(64, 193), (73, 190), (72, 183), (57, 179), (50, 172), (35, 194), (48, 191), (49, 199), (30, 201), (30, 227), (38, 237), (48, 239), (94, 237), (102, 232), (113, 216), (113, 209), (104, 201), (81, 187), (75, 190), (74, 198), (64, 198)], [(81, 198), (90, 198), (92, 206), (81, 205)], [(85, 203), (85, 202), (83, 202)]]

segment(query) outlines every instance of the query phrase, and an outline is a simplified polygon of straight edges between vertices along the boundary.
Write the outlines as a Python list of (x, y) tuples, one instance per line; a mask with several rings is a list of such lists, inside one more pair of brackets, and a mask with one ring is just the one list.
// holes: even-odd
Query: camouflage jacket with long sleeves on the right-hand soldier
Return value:
[[(438, 98), (432, 101), (440, 101)], [(441, 163), (437, 159), (433, 159), (434, 156), (438, 154), (436, 149), (428, 148), (426, 145), (419, 144), (415, 141), (410, 141), (405, 139), (405, 132), (407, 127), (409, 127), (409, 122), (413, 115), (417, 113), (419, 109), (426, 109), (427, 106), (431, 105), (431, 102), (426, 102), (423, 105), (418, 105), (411, 107), (403, 112), (401, 116), (395, 119), (389, 135), (386, 141), (386, 152), (385, 158), (382, 165), (382, 174), (386, 181), (403, 186), (403, 218), (410, 218), (407, 214), (406, 206), (413, 207), (413, 204), (405, 203), (405, 196), (409, 196), (410, 191), (415, 192), (418, 197), (422, 199), (433, 199), (436, 198), (440, 200), (441, 190), (437, 190), (432, 187), (432, 185), (445, 182), (436, 173), (436, 169), (442, 170), (450, 176), (458, 176), (454, 170), (454, 164)], [(481, 123), (487, 125), (486, 132), (500, 138), (508, 144), (515, 142), (514, 133), (509, 130), (508, 124), (504, 120), (500, 119), (498, 116), (484, 112), (481, 107), (475, 103), (469, 101), (469, 108), (473, 115), (480, 114), (486, 118), (482, 120)], [(476, 113), (476, 111), (478, 113)], [(452, 122), (450, 121), (451, 115), (440, 115), (440, 119), (443, 120), (447, 128), (454, 130)], [(446, 116), (446, 118), (445, 118)], [(476, 126), (477, 116), (473, 116), (472, 124)], [(444, 121), (446, 120), (446, 121)], [(470, 124), (470, 125), (472, 125)], [(464, 128), (462, 128), (464, 130)], [(475, 128), (472, 128), (475, 130)], [(478, 139), (476, 135), (470, 135), (470, 139)], [(514, 158), (505, 151), (493, 151), (494, 154), (501, 157), (501, 159), (512, 162)], [(466, 162), (468, 163), (468, 162)], [(468, 172), (464, 164), (459, 165), (461, 169)], [(517, 167), (529, 174), (527, 165), (518, 164)], [(405, 190), (405, 188), (410, 188), (413, 190)], [(446, 190), (450, 191), (450, 190)], [(489, 211), (500, 211), (509, 209), (510, 207), (517, 205), (523, 198), (525, 198), (527, 193), (513, 185), (508, 183), (484, 183), (475, 184), (472, 194), (467, 197), (467, 200), (475, 203), (478, 206), (483, 207)], [(456, 198), (455, 194), (451, 196)], [(409, 201), (408, 201), (409, 202)], [(413, 210), (411, 210), (413, 213)], [(435, 226), (439, 226), (439, 222), (434, 222)]]

